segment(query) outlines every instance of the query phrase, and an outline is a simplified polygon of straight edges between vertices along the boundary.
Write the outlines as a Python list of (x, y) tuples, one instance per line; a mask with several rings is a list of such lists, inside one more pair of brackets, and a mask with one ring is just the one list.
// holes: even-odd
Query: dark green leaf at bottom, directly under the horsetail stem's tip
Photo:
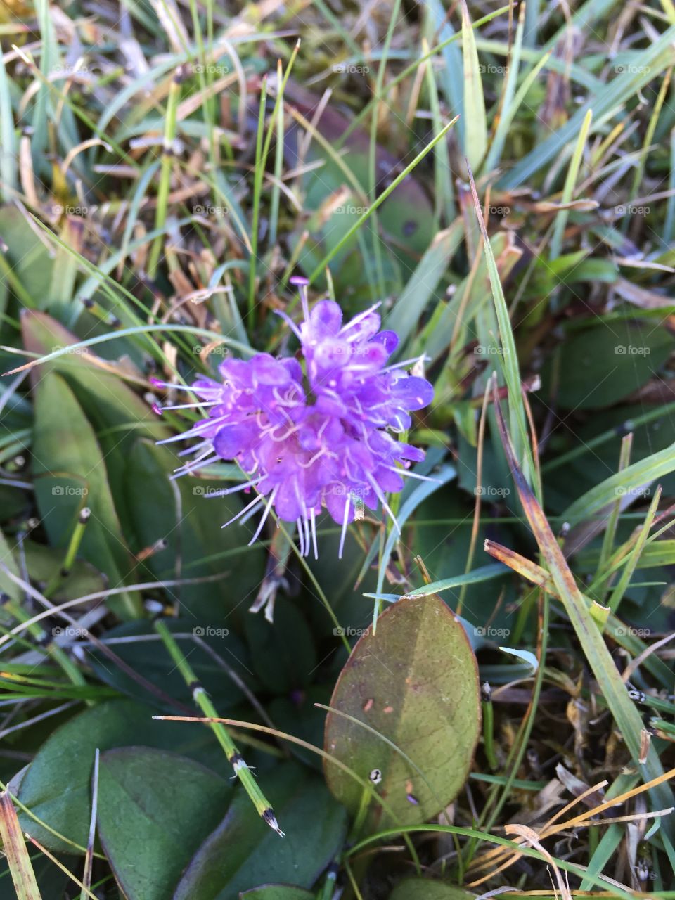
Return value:
[(239, 793), (185, 870), (174, 900), (232, 900), (261, 880), (298, 887), (314, 884), (342, 842), (345, 810), (330, 797), (322, 779), (294, 763), (266, 771), (266, 794), (284, 839)]

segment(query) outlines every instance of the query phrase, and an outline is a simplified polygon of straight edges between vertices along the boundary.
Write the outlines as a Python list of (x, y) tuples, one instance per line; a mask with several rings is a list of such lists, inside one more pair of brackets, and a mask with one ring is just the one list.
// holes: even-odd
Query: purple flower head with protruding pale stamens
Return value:
[(274, 508), (279, 518), (297, 523), (302, 554), (313, 546), (318, 556), (316, 518), (325, 507), (342, 526), (341, 557), (347, 525), (364, 507), (382, 504), (399, 529), (385, 494), (401, 491), (404, 475), (423, 477), (408, 468), (424, 453), (392, 433), (410, 428), (410, 410), (427, 406), (434, 390), (425, 378), (406, 373), (410, 360), (387, 365), (399, 338), (378, 330), (375, 308), (343, 325), (338, 303), (322, 300), (310, 311), (306, 280), (294, 283), (304, 320), (298, 326), (280, 314), (301, 343), (302, 365), (266, 353), (226, 360), (221, 381), (200, 378), (186, 389), (199, 403), (167, 408), (208, 409), (206, 419), (168, 440), (198, 438), (182, 454), (193, 459), (176, 474), (218, 459), (233, 460), (247, 473), (246, 482), (211, 496), (255, 489), (256, 497), (230, 519), (263, 505), (251, 544)]

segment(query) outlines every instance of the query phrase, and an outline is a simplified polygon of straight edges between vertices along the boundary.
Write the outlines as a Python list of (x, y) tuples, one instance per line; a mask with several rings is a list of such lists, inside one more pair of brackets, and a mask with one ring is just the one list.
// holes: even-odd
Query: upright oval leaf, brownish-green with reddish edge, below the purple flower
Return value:
[[(373, 827), (425, 822), (464, 785), (481, 725), (478, 670), (441, 599), (387, 609), (356, 644), (330, 705), (345, 715), (329, 713), (326, 751), (363, 779), (382, 773), (377, 789), (394, 821), (372, 804)], [(333, 795), (356, 814), (362, 788), (329, 761), (325, 770)]]

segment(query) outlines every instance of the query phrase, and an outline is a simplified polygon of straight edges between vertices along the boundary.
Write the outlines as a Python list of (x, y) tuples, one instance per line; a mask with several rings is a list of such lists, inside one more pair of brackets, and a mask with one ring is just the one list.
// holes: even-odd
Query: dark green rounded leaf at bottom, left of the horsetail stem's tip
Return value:
[(122, 747), (101, 755), (98, 833), (127, 900), (170, 898), (232, 789), (176, 753)]

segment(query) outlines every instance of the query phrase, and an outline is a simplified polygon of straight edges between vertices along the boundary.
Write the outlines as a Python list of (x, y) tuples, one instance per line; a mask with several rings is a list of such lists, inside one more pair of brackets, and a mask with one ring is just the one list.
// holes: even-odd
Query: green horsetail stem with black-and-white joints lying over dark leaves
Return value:
[[(166, 652), (175, 662), (176, 668), (183, 676), (185, 684), (192, 691), (195, 706), (200, 708), (205, 718), (217, 719), (219, 716), (216, 708), (211, 703), (211, 699), (200, 681), (197, 680), (189, 662), (187, 662), (183, 653), (181, 653), (180, 647), (175, 642), (174, 635), (172, 635), (166, 627), (166, 622), (163, 622), (161, 619), (157, 620), (155, 623), (155, 631), (162, 639), (162, 643), (166, 647)], [(280, 837), (284, 837), (284, 832), (279, 828), (272, 806), (270, 806), (270, 803), (262, 790), (258, 788), (253, 772), (248, 768), (244, 757), (238, 752), (237, 746), (229, 736), (229, 732), (225, 725), (221, 722), (209, 722), (208, 725), (225, 752), (225, 756), (227, 757), (234, 774), (243, 785), (251, 803), (256, 807), (257, 814), (271, 829), (273, 829), (273, 831), (280, 835)]]

